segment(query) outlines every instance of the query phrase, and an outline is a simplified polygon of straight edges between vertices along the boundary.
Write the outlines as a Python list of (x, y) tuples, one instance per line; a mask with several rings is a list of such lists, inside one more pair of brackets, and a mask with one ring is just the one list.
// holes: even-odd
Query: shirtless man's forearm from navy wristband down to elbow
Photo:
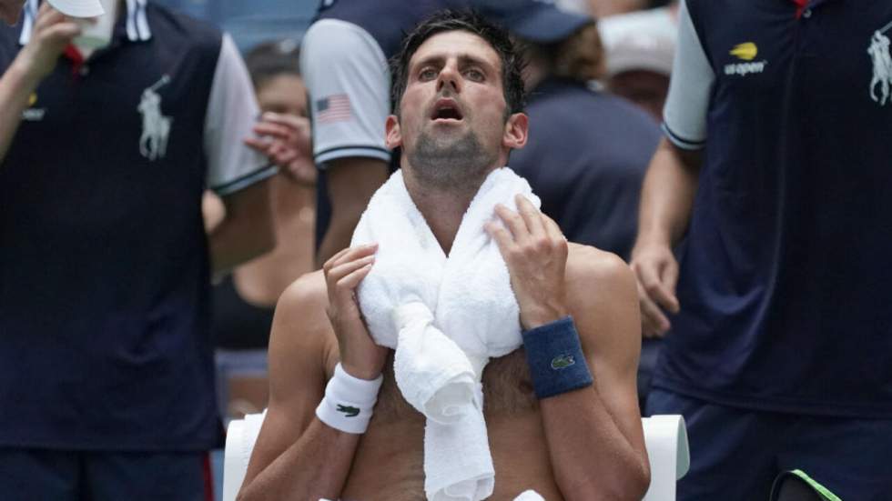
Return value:
[(540, 401), (555, 480), (568, 501), (641, 499), (649, 466), (604, 406), (597, 386)]

